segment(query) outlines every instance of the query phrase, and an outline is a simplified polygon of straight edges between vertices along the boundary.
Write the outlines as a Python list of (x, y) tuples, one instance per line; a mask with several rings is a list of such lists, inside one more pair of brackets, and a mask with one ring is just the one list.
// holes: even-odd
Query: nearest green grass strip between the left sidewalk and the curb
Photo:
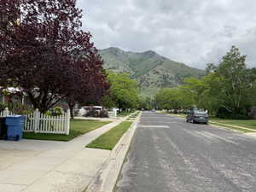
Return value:
[(124, 121), (119, 125), (116, 125), (108, 132), (104, 133), (102, 136), (97, 137), (96, 140), (88, 144), (87, 148), (101, 148), (112, 150), (119, 139), (125, 134), (132, 122)]

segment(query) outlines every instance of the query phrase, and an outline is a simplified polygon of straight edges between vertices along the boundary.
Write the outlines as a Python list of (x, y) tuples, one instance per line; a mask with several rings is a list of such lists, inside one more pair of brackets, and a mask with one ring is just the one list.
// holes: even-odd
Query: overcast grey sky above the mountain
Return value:
[(78, 0), (98, 49), (152, 49), (205, 68), (236, 45), (256, 67), (255, 0)]

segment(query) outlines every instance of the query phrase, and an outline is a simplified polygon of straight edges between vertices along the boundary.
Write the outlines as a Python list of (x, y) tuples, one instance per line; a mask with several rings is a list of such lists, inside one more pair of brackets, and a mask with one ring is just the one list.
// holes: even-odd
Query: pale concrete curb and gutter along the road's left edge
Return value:
[(113, 192), (141, 114), (139, 113), (129, 130), (120, 138), (84, 192)]

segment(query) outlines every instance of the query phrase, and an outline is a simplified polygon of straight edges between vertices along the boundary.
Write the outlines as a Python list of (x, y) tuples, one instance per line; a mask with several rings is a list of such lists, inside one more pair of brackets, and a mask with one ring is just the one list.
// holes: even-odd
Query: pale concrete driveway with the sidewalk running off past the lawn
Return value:
[(95, 177), (110, 151), (84, 148), (124, 119), (70, 142), (0, 141), (0, 191), (81, 192)]

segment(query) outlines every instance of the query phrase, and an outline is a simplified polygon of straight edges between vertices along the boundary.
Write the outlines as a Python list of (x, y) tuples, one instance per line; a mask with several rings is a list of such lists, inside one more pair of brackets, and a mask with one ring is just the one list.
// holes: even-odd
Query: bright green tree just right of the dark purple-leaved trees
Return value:
[(137, 82), (126, 73), (109, 73), (109, 97), (115, 106), (122, 109), (137, 108)]

